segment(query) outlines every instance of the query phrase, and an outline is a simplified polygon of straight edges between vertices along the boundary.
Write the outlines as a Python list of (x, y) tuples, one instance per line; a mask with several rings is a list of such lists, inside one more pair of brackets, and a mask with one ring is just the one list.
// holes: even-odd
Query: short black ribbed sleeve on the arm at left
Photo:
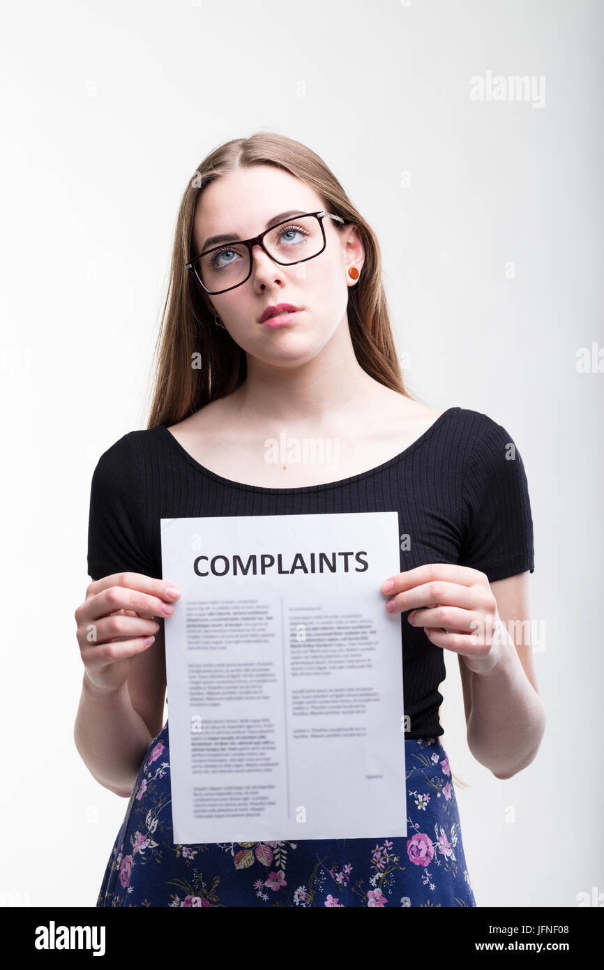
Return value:
[(88, 518), (88, 575), (142, 572), (161, 578), (144, 537), (144, 505), (126, 435), (101, 455), (92, 473)]

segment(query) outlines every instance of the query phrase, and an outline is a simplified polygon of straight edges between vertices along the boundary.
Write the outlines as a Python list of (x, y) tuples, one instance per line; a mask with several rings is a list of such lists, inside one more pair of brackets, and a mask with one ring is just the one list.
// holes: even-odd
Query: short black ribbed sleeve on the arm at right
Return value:
[(525, 466), (512, 437), (491, 418), (464, 469), (461, 508), (461, 566), (480, 569), (490, 582), (534, 571)]

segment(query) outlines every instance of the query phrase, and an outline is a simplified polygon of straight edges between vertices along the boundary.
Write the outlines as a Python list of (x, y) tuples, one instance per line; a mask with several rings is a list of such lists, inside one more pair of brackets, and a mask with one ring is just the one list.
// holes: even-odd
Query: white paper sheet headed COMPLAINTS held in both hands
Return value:
[(162, 519), (161, 543), (175, 843), (405, 836), (397, 512)]

